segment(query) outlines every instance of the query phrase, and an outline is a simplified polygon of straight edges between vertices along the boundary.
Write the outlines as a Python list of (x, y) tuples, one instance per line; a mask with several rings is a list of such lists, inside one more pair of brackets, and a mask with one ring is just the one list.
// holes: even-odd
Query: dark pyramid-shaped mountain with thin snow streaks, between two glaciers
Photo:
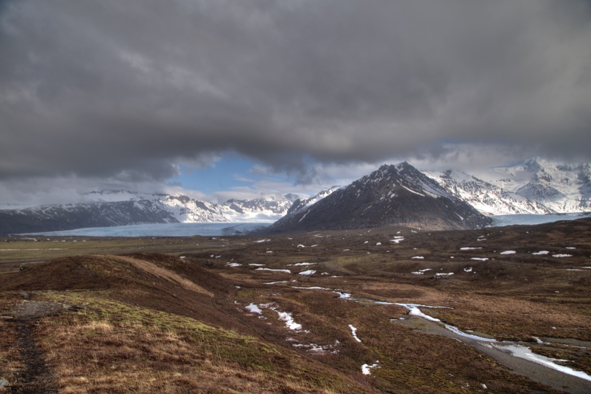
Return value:
[(429, 230), (479, 228), (491, 219), (404, 162), (304, 205), (268, 227), (271, 232), (408, 226)]

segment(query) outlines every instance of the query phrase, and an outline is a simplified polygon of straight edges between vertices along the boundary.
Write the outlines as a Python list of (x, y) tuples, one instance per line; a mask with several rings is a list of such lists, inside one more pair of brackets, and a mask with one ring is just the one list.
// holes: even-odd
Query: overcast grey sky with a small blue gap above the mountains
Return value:
[(0, 204), (591, 161), (589, 0), (0, 0)]

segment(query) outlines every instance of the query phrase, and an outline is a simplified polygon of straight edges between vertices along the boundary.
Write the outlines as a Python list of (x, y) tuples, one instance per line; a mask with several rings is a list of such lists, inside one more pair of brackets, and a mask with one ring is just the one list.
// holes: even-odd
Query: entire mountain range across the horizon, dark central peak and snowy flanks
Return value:
[(457, 170), (420, 171), (404, 162), (382, 166), (348, 186), (313, 196), (230, 199), (103, 190), (83, 204), (0, 209), (0, 234), (144, 223), (272, 222), (272, 231), (407, 225), (430, 230), (478, 228), (489, 216), (591, 211), (591, 166), (541, 158), (492, 170), (482, 180)]

